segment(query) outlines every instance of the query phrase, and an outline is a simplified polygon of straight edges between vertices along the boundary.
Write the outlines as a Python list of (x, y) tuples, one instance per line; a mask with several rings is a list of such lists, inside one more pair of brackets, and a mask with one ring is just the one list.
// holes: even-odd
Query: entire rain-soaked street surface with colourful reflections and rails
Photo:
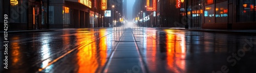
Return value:
[(8, 69), (0, 50), (4, 73), (256, 72), (256, 36), (251, 35), (119, 27), (8, 37)]

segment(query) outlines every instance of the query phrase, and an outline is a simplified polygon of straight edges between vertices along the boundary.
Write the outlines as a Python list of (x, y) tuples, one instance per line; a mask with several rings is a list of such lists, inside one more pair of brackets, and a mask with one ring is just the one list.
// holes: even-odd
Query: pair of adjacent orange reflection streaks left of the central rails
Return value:
[[(86, 35), (77, 35), (77, 44), (82, 44), (84, 42), (90, 43), (96, 36), (93, 33), (88, 33)], [(100, 32), (98, 37), (105, 35), (105, 32)], [(89, 42), (88, 42), (89, 41)], [(106, 62), (106, 37), (102, 37), (97, 42), (92, 42), (88, 45), (84, 45), (78, 48), (77, 53), (77, 64), (79, 66), (78, 72), (96, 72), (99, 67), (103, 67)], [(99, 48), (97, 48), (97, 45)], [(99, 50), (98, 50), (99, 49)], [(99, 54), (98, 54), (99, 53)]]

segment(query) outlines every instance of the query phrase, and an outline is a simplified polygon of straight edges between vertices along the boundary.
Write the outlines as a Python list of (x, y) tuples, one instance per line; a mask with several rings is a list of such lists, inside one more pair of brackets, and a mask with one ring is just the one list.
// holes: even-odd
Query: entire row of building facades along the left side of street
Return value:
[[(7, 14), (9, 30), (109, 27), (100, 0), (4, 0), (0, 4), (0, 23), (4, 24), (3, 15)], [(108, 9), (112, 10), (112, 5), (121, 14), (116, 13), (117, 20), (122, 16), (122, 1), (109, 0)]]

